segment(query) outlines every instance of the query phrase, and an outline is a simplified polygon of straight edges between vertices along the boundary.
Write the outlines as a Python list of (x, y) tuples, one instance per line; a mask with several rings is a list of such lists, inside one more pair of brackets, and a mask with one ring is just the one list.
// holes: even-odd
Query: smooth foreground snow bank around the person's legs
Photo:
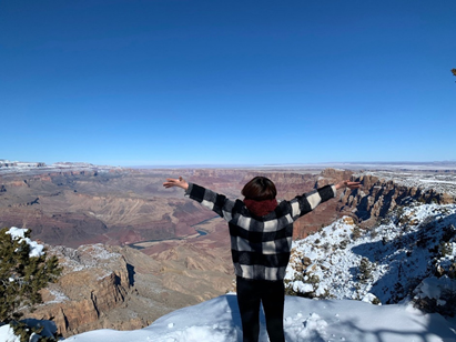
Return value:
[[(261, 315), (260, 342), (266, 342)], [(424, 314), (407, 304), (372, 305), (352, 300), (286, 296), (287, 342), (450, 342), (456, 325), (439, 314)], [(7, 341), (0, 334), (0, 341)], [(225, 294), (162, 316), (135, 331), (97, 330), (71, 336), (74, 342), (236, 342), (242, 341), (236, 296)]]

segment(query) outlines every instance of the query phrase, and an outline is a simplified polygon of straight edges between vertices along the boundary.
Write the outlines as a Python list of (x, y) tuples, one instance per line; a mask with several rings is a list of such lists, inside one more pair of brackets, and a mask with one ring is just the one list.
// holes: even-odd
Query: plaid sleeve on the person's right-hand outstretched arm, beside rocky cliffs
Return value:
[(322, 187), (317, 190), (295, 197), (290, 201), (292, 205), (292, 217), (294, 220), (311, 212), (318, 204), (336, 197), (335, 185)]

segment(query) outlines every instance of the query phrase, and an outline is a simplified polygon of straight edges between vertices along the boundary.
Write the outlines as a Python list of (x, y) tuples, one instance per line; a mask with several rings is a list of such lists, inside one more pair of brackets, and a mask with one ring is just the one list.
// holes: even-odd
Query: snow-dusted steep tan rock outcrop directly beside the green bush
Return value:
[(53, 318), (58, 332), (70, 335), (98, 326), (100, 318), (125, 301), (133, 275), (121, 254), (100, 244), (50, 248), (48, 253), (59, 258), (63, 274), (43, 290), (44, 304), (29, 316)]

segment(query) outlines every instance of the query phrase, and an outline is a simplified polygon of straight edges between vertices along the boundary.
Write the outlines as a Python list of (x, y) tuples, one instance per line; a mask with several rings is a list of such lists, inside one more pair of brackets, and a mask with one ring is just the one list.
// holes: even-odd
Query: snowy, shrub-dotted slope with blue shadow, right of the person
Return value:
[[(455, 204), (411, 205), (384, 224), (359, 230), (358, 237), (353, 220), (345, 217), (293, 242), (285, 285), (306, 296), (363, 300), (371, 293), (381, 303), (397, 303), (417, 286), (417, 279), (452, 269), (456, 241), (446, 243), (446, 255), (439, 250), (445, 234), (456, 235), (455, 225)], [(367, 269), (363, 280), (362, 263)], [(455, 282), (449, 279), (446, 290), (456, 293)]]

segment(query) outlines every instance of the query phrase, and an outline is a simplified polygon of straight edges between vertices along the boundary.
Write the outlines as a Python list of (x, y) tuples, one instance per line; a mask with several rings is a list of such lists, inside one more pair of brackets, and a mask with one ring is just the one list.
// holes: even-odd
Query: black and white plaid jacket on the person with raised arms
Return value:
[(241, 200), (229, 200), (223, 194), (193, 183), (189, 183), (185, 191), (185, 197), (227, 221), (235, 274), (271, 281), (283, 280), (285, 276), (292, 248), (293, 222), (335, 195), (335, 187), (326, 185), (291, 201), (280, 201), (274, 211), (256, 217)]

